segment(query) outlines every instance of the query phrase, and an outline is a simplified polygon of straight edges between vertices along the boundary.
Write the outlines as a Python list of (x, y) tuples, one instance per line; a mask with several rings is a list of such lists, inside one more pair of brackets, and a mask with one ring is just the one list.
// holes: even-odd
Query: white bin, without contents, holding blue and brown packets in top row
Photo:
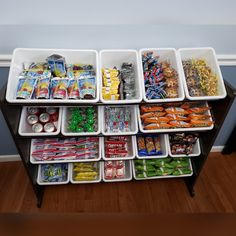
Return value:
[[(178, 74), (178, 94), (177, 98), (164, 98), (164, 99), (147, 99), (145, 84), (144, 84), (144, 72), (143, 72), (143, 64), (142, 64), (142, 55), (145, 52), (152, 51), (154, 56), (160, 57), (160, 62), (168, 61), (170, 65), (176, 70)], [(147, 103), (156, 103), (156, 102), (176, 102), (183, 101), (185, 98), (184, 88), (183, 88), (183, 73), (181, 70), (181, 61), (177, 56), (177, 51), (174, 48), (142, 48), (139, 50), (139, 63), (141, 67), (141, 88), (143, 94), (143, 100)]]

